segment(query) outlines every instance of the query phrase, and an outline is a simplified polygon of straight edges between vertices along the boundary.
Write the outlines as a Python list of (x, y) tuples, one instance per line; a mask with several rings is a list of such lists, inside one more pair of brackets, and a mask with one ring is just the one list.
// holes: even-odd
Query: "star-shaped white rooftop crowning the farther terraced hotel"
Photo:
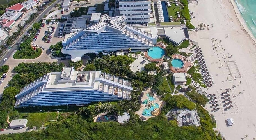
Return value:
[[(96, 19), (95, 19), (96, 20)], [(122, 24), (126, 20), (126, 16), (109, 17), (107, 14), (102, 15), (97, 24), (86, 28), (84, 31), (100, 33), (105, 29), (116, 29), (117, 31), (124, 31), (126, 26)]]

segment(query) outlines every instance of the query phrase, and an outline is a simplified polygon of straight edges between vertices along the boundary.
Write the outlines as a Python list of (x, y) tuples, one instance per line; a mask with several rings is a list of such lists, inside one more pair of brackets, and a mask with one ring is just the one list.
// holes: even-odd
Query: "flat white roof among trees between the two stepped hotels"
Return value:
[(143, 71), (145, 68), (144, 66), (146, 64), (150, 63), (147, 59), (143, 58), (143, 57), (139, 57), (137, 58), (135, 61), (132, 62), (132, 64), (130, 64), (130, 69), (133, 72), (136, 71)]

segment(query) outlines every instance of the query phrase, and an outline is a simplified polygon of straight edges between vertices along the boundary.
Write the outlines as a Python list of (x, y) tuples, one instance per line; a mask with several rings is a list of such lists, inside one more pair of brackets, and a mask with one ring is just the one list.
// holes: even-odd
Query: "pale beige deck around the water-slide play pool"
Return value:
[[(149, 88), (149, 89), (146, 90), (146, 91), (143, 91), (143, 96), (141, 97), (141, 101), (142, 101), (142, 102), (143, 102), (144, 100), (148, 99), (147, 94), (148, 94), (148, 92), (150, 92), (150, 89), (151, 89), (151, 88)], [(151, 95), (150, 95), (150, 96), (151, 96)], [(160, 100), (160, 96), (158, 96), (158, 95), (153, 95), (153, 98), (156, 98), (156, 100), (154, 100), (154, 101), (152, 101), (152, 102), (150, 102), (150, 103), (157, 103), (157, 104), (159, 104), (159, 110), (160, 110), (160, 112), (161, 112), (161, 108), (163, 107), (163, 105), (164, 105), (165, 102), (161, 101), (161, 100)], [(140, 117), (144, 117), (146, 120), (148, 120), (149, 118), (155, 117), (155, 116), (143, 116), (142, 113), (143, 113), (143, 110), (144, 110), (145, 108), (147, 108), (147, 104), (141, 104), (141, 105), (140, 105), (140, 110), (138, 110), (138, 111), (136, 111), (136, 112), (134, 112), (134, 113), (135, 113), (135, 114), (138, 114)], [(160, 112), (159, 112), (159, 114), (160, 114)], [(145, 121), (146, 121), (146, 120), (145, 120)]]

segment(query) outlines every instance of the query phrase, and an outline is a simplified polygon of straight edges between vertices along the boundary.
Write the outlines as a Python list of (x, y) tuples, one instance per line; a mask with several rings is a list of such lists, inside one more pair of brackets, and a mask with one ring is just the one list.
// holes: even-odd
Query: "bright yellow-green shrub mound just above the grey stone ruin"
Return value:
[(179, 109), (188, 108), (189, 110), (193, 110), (196, 108), (195, 103), (189, 101), (183, 95), (174, 95), (171, 94), (164, 94), (161, 98), (166, 103), (166, 108), (163, 111), (170, 111), (172, 108), (177, 107)]

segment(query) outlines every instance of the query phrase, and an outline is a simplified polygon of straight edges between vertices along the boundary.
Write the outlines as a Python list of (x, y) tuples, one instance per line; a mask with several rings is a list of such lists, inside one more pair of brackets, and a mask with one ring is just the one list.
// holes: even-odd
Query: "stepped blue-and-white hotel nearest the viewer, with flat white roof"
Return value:
[(131, 82), (100, 71), (74, 71), (64, 67), (22, 88), (15, 107), (84, 105), (90, 102), (130, 99)]

